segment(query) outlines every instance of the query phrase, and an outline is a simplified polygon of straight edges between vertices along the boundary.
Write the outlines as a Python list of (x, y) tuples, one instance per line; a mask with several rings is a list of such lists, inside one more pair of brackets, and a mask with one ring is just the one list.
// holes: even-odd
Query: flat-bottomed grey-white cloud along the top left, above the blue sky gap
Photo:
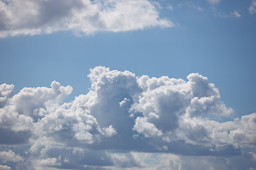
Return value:
[(157, 6), (141, 1), (1, 0), (0, 37), (36, 35), (71, 30), (76, 35), (98, 31), (142, 30), (171, 27), (159, 18)]

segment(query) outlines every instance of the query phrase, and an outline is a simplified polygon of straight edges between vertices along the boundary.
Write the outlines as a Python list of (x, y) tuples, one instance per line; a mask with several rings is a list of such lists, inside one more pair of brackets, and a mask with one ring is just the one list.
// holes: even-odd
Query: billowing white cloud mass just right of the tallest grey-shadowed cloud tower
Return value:
[(188, 82), (168, 77), (149, 79), (145, 76), (138, 81), (144, 87), (144, 92), (139, 96), (139, 102), (132, 105), (130, 112), (143, 114), (144, 118), (137, 118), (134, 130), (146, 137), (149, 136), (148, 132), (156, 130), (176, 130), (181, 123), (181, 115), (200, 118), (208, 115), (222, 117), (233, 113), (231, 108), (226, 108), (220, 101), (220, 94), (214, 84), (209, 84), (208, 79), (200, 74), (189, 74)]

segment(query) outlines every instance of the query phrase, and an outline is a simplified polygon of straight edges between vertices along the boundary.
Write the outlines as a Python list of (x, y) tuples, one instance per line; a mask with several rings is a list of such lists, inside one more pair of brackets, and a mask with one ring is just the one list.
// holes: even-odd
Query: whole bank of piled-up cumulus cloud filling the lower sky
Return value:
[(256, 113), (233, 118), (207, 77), (106, 67), (88, 77), (91, 90), (70, 103), (72, 87), (57, 81), (18, 94), (1, 84), (0, 169), (256, 168)]

